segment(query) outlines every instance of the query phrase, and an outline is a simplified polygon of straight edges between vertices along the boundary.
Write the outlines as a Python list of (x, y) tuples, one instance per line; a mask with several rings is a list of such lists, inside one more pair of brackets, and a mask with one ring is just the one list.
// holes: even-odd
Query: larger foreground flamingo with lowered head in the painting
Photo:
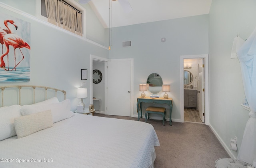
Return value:
[(20, 60), (20, 62), (18, 62), (18, 64), (16, 64), (16, 48), (28, 48), (30, 50), (30, 46), (28, 45), (28, 43), (26, 43), (20, 36), (16, 35), (16, 34), (6, 34), (3, 37), (3, 41), (4, 44), (6, 46), (6, 52), (4, 54), (2, 54), (2, 56), (0, 56), (0, 68), (3, 68), (4, 70), (6, 70), (5, 68), (5, 63), (4, 63), (4, 56), (6, 56), (9, 51), (10, 48), (9, 46), (12, 46), (14, 48), (14, 60), (15, 60), (15, 65), (14, 68), (12, 70), (16, 70), (16, 67), (20, 64), (20, 62), (24, 59), (24, 55), (22, 53), (22, 51), (20, 50), (23, 58), (22, 60)]

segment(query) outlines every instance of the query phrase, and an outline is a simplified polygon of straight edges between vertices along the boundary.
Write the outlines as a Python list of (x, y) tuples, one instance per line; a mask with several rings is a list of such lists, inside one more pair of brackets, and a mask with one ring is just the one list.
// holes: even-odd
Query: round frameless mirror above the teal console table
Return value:
[(148, 76), (147, 87), (152, 94), (157, 94), (162, 90), (163, 80), (159, 74), (152, 73)]

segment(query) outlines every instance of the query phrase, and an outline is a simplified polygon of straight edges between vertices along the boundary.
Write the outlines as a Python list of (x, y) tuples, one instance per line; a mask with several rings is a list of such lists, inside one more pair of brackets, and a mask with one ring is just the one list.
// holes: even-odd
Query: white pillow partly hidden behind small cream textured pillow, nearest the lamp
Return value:
[(59, 103), (53, 103), (53, 104), (24, 105), (21, 107), (20, 112), (22, 116), (26, 116), (29, 114), (34, 114), (34, 113), (38, 113), (46, 110), (52, 111), (53, 122), (58, 122), (66, 118), (70, 118), (74, 115), (74, 113), (71, 111), (71, 102), (69, 99), (66, 99)]

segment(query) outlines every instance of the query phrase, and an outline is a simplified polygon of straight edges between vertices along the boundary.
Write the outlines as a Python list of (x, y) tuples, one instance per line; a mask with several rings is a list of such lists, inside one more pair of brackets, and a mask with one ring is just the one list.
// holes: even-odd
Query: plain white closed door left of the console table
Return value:
[(131, 61), (107, 62), (108, 115), (131, 116)]

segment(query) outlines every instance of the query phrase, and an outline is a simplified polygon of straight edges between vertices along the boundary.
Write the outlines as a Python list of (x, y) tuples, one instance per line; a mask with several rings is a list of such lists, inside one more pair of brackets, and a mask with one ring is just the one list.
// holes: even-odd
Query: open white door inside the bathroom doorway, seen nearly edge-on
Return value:
[(204, 122), (204, 58), (199, 60), (199, 81), (198, 81), (198, 104), (199, 117)]

